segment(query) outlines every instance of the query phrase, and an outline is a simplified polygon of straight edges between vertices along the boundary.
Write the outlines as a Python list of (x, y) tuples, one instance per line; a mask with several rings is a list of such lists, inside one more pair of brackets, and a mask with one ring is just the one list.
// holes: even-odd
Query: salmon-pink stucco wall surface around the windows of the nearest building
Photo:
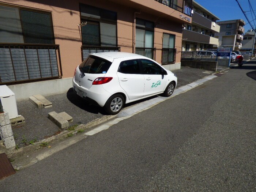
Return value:
[[(60, 45), (61, 66), (63, 71), (63, 78), (72, 77), (74, 75), (75, 67), (82, 61), (81, 46), (82, 41), (80, 38), (78, 23), (80, 23), (79, 3), (93, 5), (95, 7), (104, 8), (117, 12), (117, 35), (118, 46), (121, 47), (122, 52), (133, 52), (133, 22), (134, 12), (140, 12), (136, 14), (136, 17), (150, 20), (155, 22), (155, 34), (154, 34), (154, 47), (156, 51), (156, 61), (161, 63), (161, 49), (162, 49), (162, 36), (163, 33), (169, 33), (176, 35), (175, 48), (177, 49), (176, 63), (180, 62), (181, 56), (181, 40), (182, 40), (182, 21), (179, 19), (179, 14), (176, 11), (174, 19), (170, 16), (159, 14), (154, 15), (163, 9), (163, 12), (170, 11), (170, 8), (157, 1), (152, 1), (157, 6), (157, 11), (143, 12), (138, 10), (138, 7), (132, 7), (129, 5), (129, 1), (124, 1), (126, 6), (122, 4), (122, 1), (116, 0), (1, 0), (0, 4), (8, 4), (14, 6), (24, 6), (27, 8), (33, 8), (38, 10), (52, 12), (53, 30), (55, 36), (55, 43)], [(133, 0), (135, 3), (137, 0)], [(131, 1), (131, 3), (134, 3)], [(117, 4), (120, 3), (120, 4)], [(148, 2), (148, 0), (147, 0)], [(138, 2), (137, 2), (138, 3)], [(151, 6), (150, 4), (148, 6)], [(162, 6), (162, 7), (161, 7)], [(150, 9), (149, 9), (150, 10)], [(159, 12), (160, 13), (160, 12)]]

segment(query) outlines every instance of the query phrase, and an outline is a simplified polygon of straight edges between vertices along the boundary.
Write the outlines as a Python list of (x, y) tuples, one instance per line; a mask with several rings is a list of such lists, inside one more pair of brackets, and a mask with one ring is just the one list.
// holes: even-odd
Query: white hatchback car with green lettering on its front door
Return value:
[(117, 114), (125, 103), (162, 94), (172, 95), (177, 77), (156, 61), (124, 52), (90, 54), (75, 69), (73, 89), (108, 114)]

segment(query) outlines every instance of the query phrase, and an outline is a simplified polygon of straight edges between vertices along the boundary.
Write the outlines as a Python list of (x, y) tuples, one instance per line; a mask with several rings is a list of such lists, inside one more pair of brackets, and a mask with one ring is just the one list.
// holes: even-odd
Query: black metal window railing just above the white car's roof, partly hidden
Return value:
[(86, 59), (90, 53), (101, 53), (101, 52), (110, 52), (116, 51), (120, 52), (120, 47), (102, 47), (102, 46), (82, 46), (82, 60)]

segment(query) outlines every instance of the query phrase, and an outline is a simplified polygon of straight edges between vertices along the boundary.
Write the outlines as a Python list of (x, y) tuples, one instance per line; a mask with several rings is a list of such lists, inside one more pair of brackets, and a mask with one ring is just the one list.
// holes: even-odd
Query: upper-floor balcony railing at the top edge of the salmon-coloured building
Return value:
[(191, 16), (192, 0), (155, 0), (159, 3), (167, 5), (174, 10), (182, 12), (188, 16)]

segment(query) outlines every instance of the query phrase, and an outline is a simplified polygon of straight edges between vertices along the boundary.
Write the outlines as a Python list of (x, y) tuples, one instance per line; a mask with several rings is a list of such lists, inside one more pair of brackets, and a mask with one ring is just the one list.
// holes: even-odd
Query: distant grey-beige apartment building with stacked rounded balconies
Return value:
[(219, 21), (217, 24), (221, 27), (219, 33), (215, 33), (215, 37), (219, 38), (217, 47), (230, 47), (232, 50), (240, 50), (242, 48), (244, 25), (242, 19)]

